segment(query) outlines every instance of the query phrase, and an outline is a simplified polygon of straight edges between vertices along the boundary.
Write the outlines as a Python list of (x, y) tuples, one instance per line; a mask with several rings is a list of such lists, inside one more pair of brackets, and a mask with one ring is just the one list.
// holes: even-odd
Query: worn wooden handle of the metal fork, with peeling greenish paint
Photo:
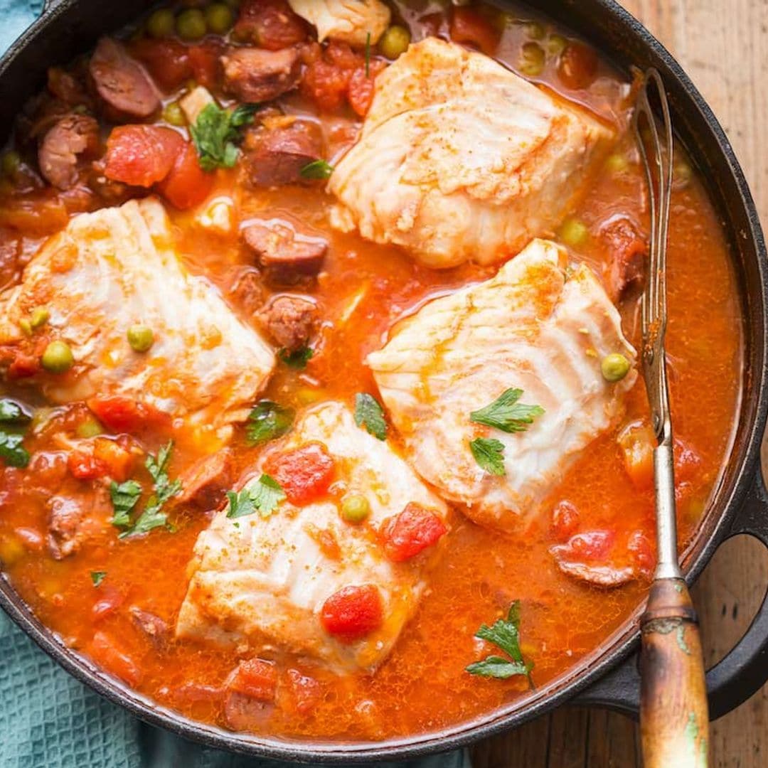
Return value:
[(698, 619), (683, 579), (654, 581), (640, 625), (644, 768), (706, 768), (707, 684)]

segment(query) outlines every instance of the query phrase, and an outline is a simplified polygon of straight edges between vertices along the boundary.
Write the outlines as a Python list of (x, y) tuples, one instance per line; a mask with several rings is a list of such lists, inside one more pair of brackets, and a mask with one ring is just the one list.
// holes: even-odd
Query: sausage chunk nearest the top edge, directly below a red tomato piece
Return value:
[(221, 57), (221, 65), (224, 88), (240, 101), (270, 101), (296, 88), (301, 76), (296, 48), (230, 48)]

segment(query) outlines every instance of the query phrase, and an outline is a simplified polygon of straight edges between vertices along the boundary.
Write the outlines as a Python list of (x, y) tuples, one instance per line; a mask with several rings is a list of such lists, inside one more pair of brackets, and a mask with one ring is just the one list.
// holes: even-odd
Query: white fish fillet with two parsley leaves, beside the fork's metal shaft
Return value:
[[(564, 251), (534, 240), (492, 280), (402, 321), (367, 363), (413, 468), (472, 520), (515, 531), (621, 415), (637, 372), (606, 382), (601, 359), (611, 353), (635, 359), (601, 284), (584, 264), (567, 275)], [(545, 409), (527, 432), (470, 421), (509, 388)], [(505, 476), (475, 462), (478, 437), (504, 444)]]

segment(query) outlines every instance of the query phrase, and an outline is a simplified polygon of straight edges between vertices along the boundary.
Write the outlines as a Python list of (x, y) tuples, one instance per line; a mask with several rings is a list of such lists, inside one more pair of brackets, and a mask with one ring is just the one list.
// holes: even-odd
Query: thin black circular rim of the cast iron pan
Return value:
[[(60, 5), (49, 4), (51, 6), (50, 9), (18, 38), (9, 48), (8, 53), (2, 58), (2, 61), (0, 61), (0, 78), (5, 74), (9, 62), (12, 61), (18, 51), (34, 44), (39, 32), (54, 23), (71, 5), (74, 5), (74, 2), (76, 0), (65, 0)], [(564, 5), (567, 6), (570, 2), (572, 0), (565, 0)], [(760, 344), (760, 349), (756, 350), (759, 353), (760, 369), (753, 370), (752, 390), (756, 392), (756, 397), (751, 414), (752, 420), (749, 425), (743, 425), (744, 449), (738, 462), (739, 466), (733, 487), (730, 488), (730, 492), (724, 498), (719, 499), (722, 506), (720, 518), (716, 521), (712, 531), (710, 531), (709, 538), (704, 545), (694, 552), (690, 562), (687, 580), (694, 581), (703, 569), (703, 566), (711, 558), (717, 546), (720, 545), (728, 525), (730, 525), (734, 515), (742, 507), (746, 495), (753, 485), (756, 473), (760, 472), (760, 443), (766, 422), (766, 412), (768, 412), (768, 386), (766, 386), (768, 372), (766, 372), (765, 366), (762, 365), (766, 356), (768, 356), (766, 355), (768, 353), (768, 315), (766, 315), (766, 306), (768, 306), (768, 270), (766, 270), (766, 263), (768, 262), (766, 262), (766, 247), (750, 189), (746, 184), (746, 179), (743, 176), (743, 171), (733, 152), (730, 141), (728, 141), (717, 118), (715, 118), (710, 107), (704, 101), (699, 91), (697, 91), (697, 88), (694, 87), (690, 78), (688, 78), (674, 57), (670, 55), (669, 51), (637, 19), (622, 8), (621, 5), (618, 5), (615, 0), (594, 0), (594, 4), (600, 6), (605, 15), (613, 18), (618, 25), (621, 25), (631, 35), (634, 35), (667, 68), (671, 77), (686, 91), (690, 100), (687, 106), (697, 110), (703, 122), (712, 131), (717, 143), (717, 149), (727, 162), (727, 167), (740, 194), (738, 205), (746, 212), (746, 217), (750, 223), (750, 231), (748, 235), (745, 233), (744, 237), (748, 237), (750, 242), (753, 243), (758, 257), (756, 267), (760, 275), (761, 293), (760, 296), (752, 296), (751, 298), (760, 303), (758, 309), (762, 327), (760, 329), (753, 327), (751, 330), (753, 333), (756, 333), (758, 330), (762, 331), (762, 343)], [(700, 534), (700, 538), (702, 536)], [(523, 705), (523, 707), (509, 713), (500, 714), (497, 710), (472, 722), (458, 723), (438, 733), (402, 737), (382, 743), (350, 743), (345, 745), (253, 737), (245, 734), (230, 733), (217, 727), (189, 720), (135, 693), (118, 680), (102, 673), (97, 667), (90, 664), (88, 660), (66, 648), (55, 637), (55, 634), (42, 625), (37, 617), (31, 613), (31, 610), (15, 593), (4, 574), (2, 580), (0, 580), (0, 607), (48, 656), (56, 660), (58, 664), (61, 664), (65, 670), (84, 684), (87, 684), (98, 694), (124, 707), (141, 720), (158, 727), (163, 727), (181, 737), (203, 743), (206, 746), (250, 756), (293, 760), (299, 763), (348, 764), (366, 763), (373, 760), (406, 759), (467, 746), (482, 738), (490, 737), (504, 730), (509, 730), (511, 727), (521, 725), (565, 703), (575, 694), (578, 694), (578, 692), (584, 690), (602, 675), (606, 674), (607, 671), (621, 664), (634, 650), (639, 637), (633, 621), (631, 619), (628, 620), (621, 628), (621, 631), (617, 633), (617, 639), (612, 644), (605, 644), (602, 649), (594, 652), (594, 663), (589, 665), (588, 668), (584, 670), (576, 668), (574, 674), (571, 674), (570, 679), (567, 677), (561, 678), (552, 684), (552, 687), (557, 687), (556, 690), (548, 693), (545, 689), (546, 695), (535, 697), (530, 705)], [(638, 607), (637, 611), (640, 611), (640, 607)], [(575, 677), (575, 674), (578, 674), (578, 677)]]

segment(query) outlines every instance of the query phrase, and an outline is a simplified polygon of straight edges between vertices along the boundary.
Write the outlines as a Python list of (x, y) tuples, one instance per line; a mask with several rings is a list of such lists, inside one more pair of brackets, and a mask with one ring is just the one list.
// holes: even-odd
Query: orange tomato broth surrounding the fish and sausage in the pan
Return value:
[[(415, 36), (417, 18), (436, 7), (398, 5), (401, 18), (412, 25)], [(445, 30), (445, 18), (430, 18), (429, 24), (436, 31)], [(516, 68), (523, 41), (523, 27), (508, 25), (498, 58)], [(537, 79), (588, 105), (624, 132), (614, 154), (624, 157), (627, 166), (602, 168), (571, 214), (590, 230), (588, 240), (571, 250), (571, 257), (586, 261), (601, 274), (609, 258), (598, 237), (601, 223), (619, 213), (647, 223), (641, 203), (641, 167), (637, 151), (625, 135), (630, 88), (604, 62), (594, 84), (584, 91), (563, 88), (552, 58)], [(690, 173), (689, 168), (680, 168)], [(322, 233), (330, 241), (323, 274), (316, 286), (306, 288), (318, 301), (323, 317), (315, 356), (304, 372), (279, 366), (264, 393), (284, 405), (302, 408), (326, 398), (352, 403), (356, 392), (376, 392), (362, 361), (366, 353), (381, 346), (396, 319), (432, 296), (495, 272), (495, 268), (473, 265), (429, 270), (395, 248), (329, 230), (326, 210), (332, 200), (316, 188), (254, 191), (237, 184), (237, 171), (219, 171), (214, 197), (219, 194), (233, 197), (240, 220), (286, 219), (304, 232)], [(237, 237), (202, 234), (192, 227), (191, 214), (173, 210), (170, 214), (190, 271), (206, 275), (233, 308), (250, 319), (250, 307), (245, 306), (236, 286), (244, 273), (253, 270), (253, 257)], [(26, 249), (37, 243), (31, 236)], [(727, 461), (742, 370), (737, 282), (717, 215), (695, 174), (674, 189), (669, 265), (667, 346), (674, 427), (677, 437), (700, 459), (695, 472), (678, 480), (682, 549), (694, 535)], [(637, 346), (637, 301), (623, 304), (621, 313), (625, 333)], [(8, 386), (7, 392), (35, 402), (28, 390)], [(641, 380), (627, 399), (622, 424), (637, 419), (647, 423)], [(621, 538), (639, 530), (653, 541), (652, 492), (637, 490), (628, 478), (617, 447), (617, 431), (584, 451), (561, 484), (552, 488), (551, 506), (562, 499), (572, 502), (580, 515), (579, 531), (615, 530)], [(154, 452), (166, 437), (144, 434), (141, 439)], [(397, 445), (396, 437), (392, 443)], [(82, 492), (84, 484), (71, 476), (61, 479), (61, 456), (57, 458), (48, 432), (31, 436), (26, 445), (33, 453), (30, 468), (6, 468), (0, 485), (0, 558), (15, 589), (68, 646), (91, 655), (108, 672), (159, 703), (227, 727), (224, 680), (253, 651), (246, 647), (221, 650), (186, 641), (156, 647), (137, 629), (128, 612), (129, 607), (139, 606), (173, 624), (187, 588), (186, 568), (194, 541), (208, 518), (178, 507), (171, 514), (177, 528), (174, 533), (157, 530), (127, 540), (118, 540), (117, 531), (106, 526), (76, 554), (56, 561), (42, 544), (47, 525), (44, 503), (51, 493), (47, 488), (57, 482), (59, 493)], [(250, 465), (259, 454), (259, 449), (245, 445), (240, 429), (233, 447), (238, 469)], [(180, 440), (170, 475), (182, 472), (195, 458), (194, 449)], [(521, 606), (522, 649), (535, 664), (532, 677), (536, 686), (568, 673), (621, 627), (644, 598), (647, 582), (607, 590), (568, 578), (548, 552), (555, 543), (550, 519), (548, 514), (541, 515), (531, 528), (505, 536), (473, 525), (458, 512), (418, 613), (376, 674), (335, 677), (310, 660), (269, 654), (278, 661), (281, 681), (287, 669), (301, 670), (318, 680), (320, 697), (309, 711), (299, 711), (289, 687), (281, 683), (276, 707), (265, 710), (253, 730), (281, 737), (380, 740), (492, 713), (526, 694), (528, 682), (523, 677), (473, 677), (465, 667), (491, 650), (473, 638), (475, 631), (504, 615), (515, 600)], [(26, 529), (27, 535), (20, 536), (20, 529)], [(29, 531), (38, 534), (38, 544)], [(98, 588), (91, 583), (92, 571), (106, 571)], [(94, 647), (97, 632), (108, 638), (111, 650), (99, 650), (98, 644)]]

